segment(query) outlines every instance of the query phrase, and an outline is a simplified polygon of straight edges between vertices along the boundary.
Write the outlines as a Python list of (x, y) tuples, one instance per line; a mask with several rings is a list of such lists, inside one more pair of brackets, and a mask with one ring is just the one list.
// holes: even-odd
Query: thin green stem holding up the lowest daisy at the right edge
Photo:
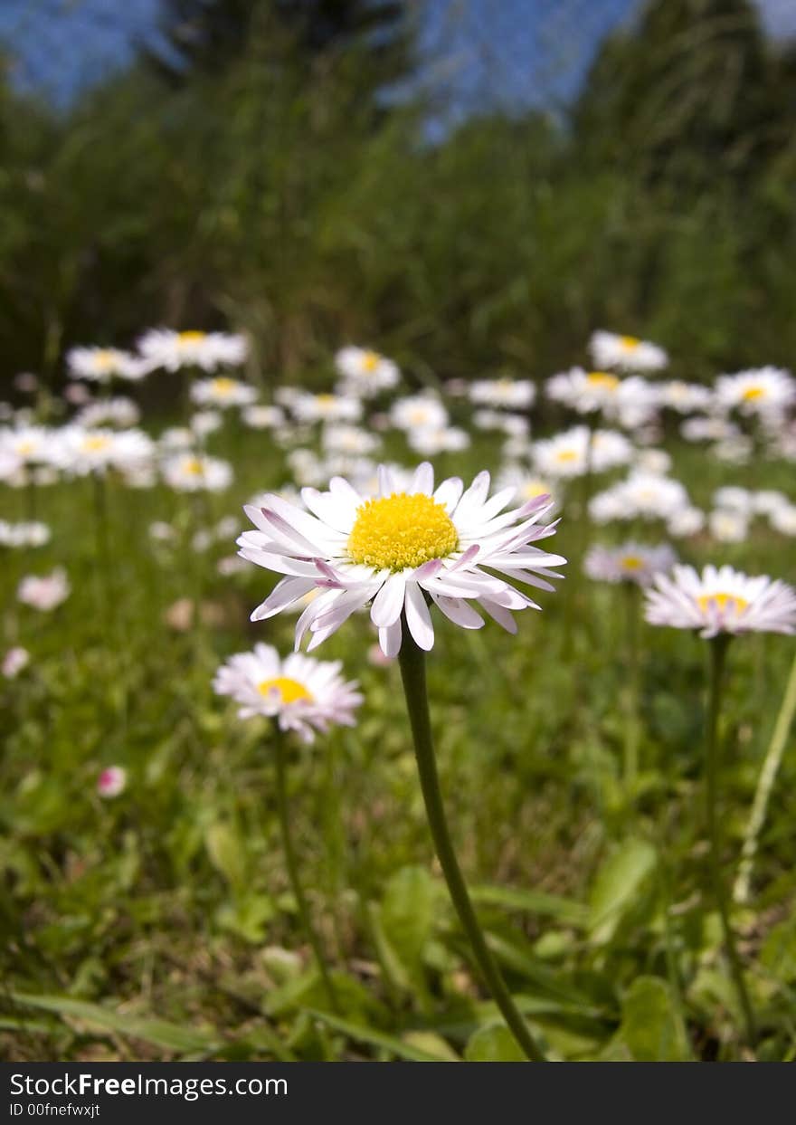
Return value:
[(747, 1029), (749, 1045), (754, 1046), (757, 1040), (757, 1028), (754, 1023), (754, 1010), (752, 1008), (747, 984), (743, 979), (743, 968), (735, 945), (735, 935), (730, 920), (730, 903), (722, 878), (722, 838), (716, 811), (718, 792), (718, 716), (722, 705), (722, 690), (724, 686), (724, 665), (730, 637), (720, 634), (711, 641), (711, 676), (708, 686), (707, 705), (707, 758), (705, 763), (705, 812), (707, 816), (707, 832), (709, 839), (711, 879), (713, 881), (713, 893), (716, 907), (722, 919), (724, 932), (724, 945), (726, 947), (727, 960), (730, 961), (730, 972), (732, 974), (738, 998), (743, 1012), (743, 1022)]

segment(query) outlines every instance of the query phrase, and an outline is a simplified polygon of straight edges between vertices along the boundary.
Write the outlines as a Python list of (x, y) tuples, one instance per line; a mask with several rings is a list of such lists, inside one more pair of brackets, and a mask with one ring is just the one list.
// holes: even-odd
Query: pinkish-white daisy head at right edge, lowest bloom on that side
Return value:
[(676, 566), (671, 576), (657, 575), (646, 592), (650, 624), (718, 633), (796, 631), (796, 591), (768, 575), (749, 577), (730, 566)]

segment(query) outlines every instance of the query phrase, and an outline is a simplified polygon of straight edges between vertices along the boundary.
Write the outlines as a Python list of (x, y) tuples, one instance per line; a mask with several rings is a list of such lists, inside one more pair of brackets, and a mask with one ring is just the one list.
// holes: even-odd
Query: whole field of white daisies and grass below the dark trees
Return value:
[(796, 1058), (796, 380), (571, 362), (17, 378), (4, 1058)]

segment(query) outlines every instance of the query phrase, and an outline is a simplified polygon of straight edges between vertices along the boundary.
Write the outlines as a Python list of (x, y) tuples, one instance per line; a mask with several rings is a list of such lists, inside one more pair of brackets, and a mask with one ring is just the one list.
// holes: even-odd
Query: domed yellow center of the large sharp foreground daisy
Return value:
[(423, 493), (365, 501), (349, 536), (351, 560), (378, 570), (423, 566), (458, 547), (459, 532), (447, 512)]

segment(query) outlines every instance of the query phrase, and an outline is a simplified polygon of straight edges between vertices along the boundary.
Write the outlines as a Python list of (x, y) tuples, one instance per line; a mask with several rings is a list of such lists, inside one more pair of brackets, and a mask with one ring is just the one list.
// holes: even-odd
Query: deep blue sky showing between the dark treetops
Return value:
[[(554, 105), (582, 76), (603, 36), (641, 0), (418, 0), (429, 78), (462, 108), (487, 93)], [(796, 36), (796, 0), (758, 0), (768, 30)], [(161, 0), (0, 0), (13, 76), (64, 102), (156, 36)]]

